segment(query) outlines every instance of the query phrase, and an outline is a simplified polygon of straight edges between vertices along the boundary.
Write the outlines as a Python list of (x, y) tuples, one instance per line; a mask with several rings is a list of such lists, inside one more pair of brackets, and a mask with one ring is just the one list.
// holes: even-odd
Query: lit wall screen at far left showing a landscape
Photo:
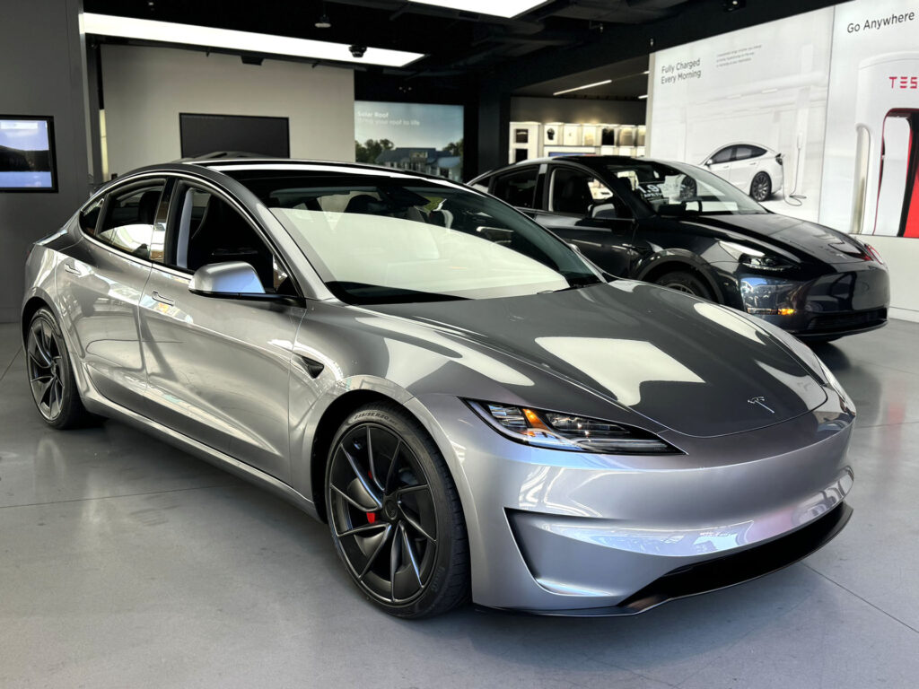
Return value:
[(0, 115), (0, 191), (57, 191), (53, 120)]

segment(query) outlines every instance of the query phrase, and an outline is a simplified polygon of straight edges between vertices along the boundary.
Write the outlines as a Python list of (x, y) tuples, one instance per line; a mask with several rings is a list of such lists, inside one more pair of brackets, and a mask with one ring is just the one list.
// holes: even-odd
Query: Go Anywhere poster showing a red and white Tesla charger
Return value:
[(919, 0), (836, 6), (820, 220), (919, 237)]

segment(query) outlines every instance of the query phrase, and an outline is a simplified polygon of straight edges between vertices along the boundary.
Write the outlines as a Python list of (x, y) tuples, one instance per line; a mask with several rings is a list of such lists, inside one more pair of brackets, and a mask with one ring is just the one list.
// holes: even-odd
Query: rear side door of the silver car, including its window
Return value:
[(78, 220), (83, 239), (63, 250), (57, 274), (75, 358), (99, 394), (134, 411), (146, 389), (138, 305), (164, 186), (163, 177), (142, 177), (89, 204)]

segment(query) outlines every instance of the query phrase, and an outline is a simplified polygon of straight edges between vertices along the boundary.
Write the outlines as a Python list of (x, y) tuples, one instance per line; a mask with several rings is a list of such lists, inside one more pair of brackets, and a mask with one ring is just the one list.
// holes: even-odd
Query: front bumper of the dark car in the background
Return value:
[[(801, 339), (864, 333), (887, 323), (887, 270), (876, 264), (805, 282), (780, 277), (740, 279), (743, 308)], [(791, 310), (789, 315), (767, 311)]]

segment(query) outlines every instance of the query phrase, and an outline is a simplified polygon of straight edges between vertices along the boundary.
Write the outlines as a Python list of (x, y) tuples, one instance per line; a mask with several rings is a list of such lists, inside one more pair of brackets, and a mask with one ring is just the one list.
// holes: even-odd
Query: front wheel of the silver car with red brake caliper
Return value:
[(469, 598), (469, 542), (443, 456), (394, 403), (341, 425), (325, 468), (329, 531), (357, 588), (393, 616), (439, 615)]

